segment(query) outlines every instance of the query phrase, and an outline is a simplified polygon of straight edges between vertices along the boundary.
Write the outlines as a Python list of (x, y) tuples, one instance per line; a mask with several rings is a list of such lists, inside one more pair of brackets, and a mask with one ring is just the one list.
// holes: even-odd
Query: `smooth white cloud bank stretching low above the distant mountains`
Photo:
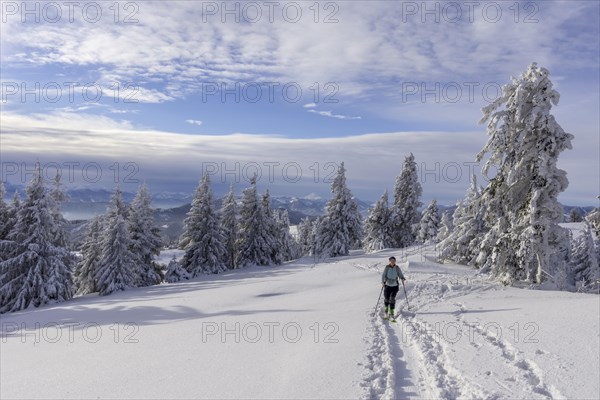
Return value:
[[(479, 170), (473, 162), (475, 154), (487, 140), (483, 131), (389, 132), (316, 139), (242, 133), (189, 135), (64, 112), (35, 116), (6, 112), (2, 129), (3, 161), (104, 162), (105, 169), (115, 162), (134, 162), (139, 166), (138, 177), (147, 180), (153, 190), (175, 183), (192, 188), (203, 166), (210, 163), (217, 171), (213, 179), (216, 184), (227, 171), (230, 179), (231, 171), (239, 178), (258, 166), (262, 173), (260, 184), (271, 187), (275, 194), (316, 192), (326, 196), (329, 182), (325, 179), (335, 172), (335, 165), (344, 161), (353, 193), (376, 200), (385, 188), (393, 187), (404, 156), (412, 152), (421, 171), (425, 198), (437, 197), (442, 204), (453, 204), (462, 198), (469, 173)], [(597, 140), (586, 146), (591, 148), (589, 152), (579, 153), (576, 163), (571, 162), (569, 151), (565, 152), (564, 161), (561, 155), (559, 166), (567, 170), (570, 181), (563, 195), (565, 202), (590, 204), (595, 198), (596, 193), (590, 195), (589, 182), (600, 179)], [(283, 179), (285, 168), (288, 175), (299, 173), (301, 179)], [(111, 182), (109, 186), (114, 183)], [(481, 182), (485, 184), (485, 180)]]

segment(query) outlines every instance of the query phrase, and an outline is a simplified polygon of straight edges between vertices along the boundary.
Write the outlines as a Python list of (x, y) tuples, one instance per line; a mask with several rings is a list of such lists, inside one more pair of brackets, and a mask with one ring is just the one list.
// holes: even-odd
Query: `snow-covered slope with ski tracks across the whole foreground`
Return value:
[[(416, 311), (395, 324), (372, 315), (392, 254)], [(3, 314), (0, 397), (600, 397), (598, 296), (432, 259), (306, 258)]]

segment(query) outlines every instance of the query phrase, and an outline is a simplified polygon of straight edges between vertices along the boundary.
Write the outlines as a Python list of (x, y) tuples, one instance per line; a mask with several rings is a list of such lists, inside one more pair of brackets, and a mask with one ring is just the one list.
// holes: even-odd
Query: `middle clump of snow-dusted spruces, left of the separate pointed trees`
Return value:
[(169, 263), (167, 282), (250, 265), (277, 265), (298, 256), (287, 210), (271, 208), (269, 191), (259, 195), (256, 177), (239, 205), (232, 185), (217, 210), (210, 178), (204, 175), (184, 220), (179, 247), (185, 253), (180, 261)]

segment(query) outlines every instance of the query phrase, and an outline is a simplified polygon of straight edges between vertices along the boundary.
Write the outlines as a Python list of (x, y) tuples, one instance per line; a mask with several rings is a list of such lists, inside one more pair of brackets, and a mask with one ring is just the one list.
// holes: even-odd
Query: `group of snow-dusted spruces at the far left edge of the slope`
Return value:
[(163, 280), (154, 262), (162, 240), (146, 186), (140, 187), (131, 205), (115, 190), (107, 214), (88, 224), (79, 256), (69, 249), (60, 209), (66, 200), (60, 176), (48, 188), (39, 165), (22, 202), (15, 193), (7, 205), (0, 182), (0, 312)]

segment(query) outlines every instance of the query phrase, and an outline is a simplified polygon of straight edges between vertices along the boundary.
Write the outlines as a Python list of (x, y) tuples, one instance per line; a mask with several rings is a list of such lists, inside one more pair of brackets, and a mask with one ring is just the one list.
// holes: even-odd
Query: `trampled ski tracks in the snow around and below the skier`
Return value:
[[(381, 263), (351, 265), (361, 270), (379, 272), (378, 266), (380, 267)], [(414, 283), (408, 292), (409, 301), (411, 310), (417, 312), (435, 303), (448, 302), (473, 292), (492, 290), (497, 286), (484, 279), (434, 271), (414, 271), (411, 275), (414, 277)], [(462, 284), (461, 280), (466, 283)], [(405, 302), (400, 299), (399, 294), (398, 304), (403, 308)], [(457, 311), (452, 313), (456, 322), (470, 327), (484, 339), (483, 343), (471, 343), (473, 351), (493, 354), (491, 359), (500, 364), (490, 365), (486, 375), (491, 375), (490, 371), (503, 370), (511, 377), (505, 379), (504, 383), (494, 377), (498, 389), (493, 392), (485, 390), (475, 383), (475, 379), (462, 376), (452, 361), (454, 350), (449, 349), (439, 336), (434, 336), (434, 332), (424, 329), (426, 321), (419, 318), (418, 314), (401, 314), (396, 324), (385, 323), (379, 315), (369, 314), (371, 324), (365, 341), (370, 343), (370, 347), (364, 365), (366, 373), (361, 383), (365, 398), (565, 398), (557, 388), (544, 382), (541, 368), (535, 362), (525, 358), (510, 342), (496, 338), (479, 324), (464, 320), (462, 313), (466, 308), (462, 303), (455, 302), (453, 305), (457, 307)], [(415, 378), (416, 385), (413, 382)]]

